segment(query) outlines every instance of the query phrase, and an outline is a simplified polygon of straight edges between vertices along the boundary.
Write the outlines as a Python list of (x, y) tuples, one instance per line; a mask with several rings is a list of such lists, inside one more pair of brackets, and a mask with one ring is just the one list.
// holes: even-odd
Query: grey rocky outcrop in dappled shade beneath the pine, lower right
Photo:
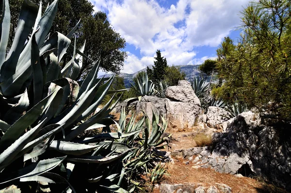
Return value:
[[(291, 190), (291, 142), (282, 128), (261, 125), (259, 115), (245, 112), (227, 121), (226, 132), (215, 133), (211, 155), (202, 155), (196, 165), (221, 173), (259, 175)], [(197, 160), (196, 160), (197, 161)]]

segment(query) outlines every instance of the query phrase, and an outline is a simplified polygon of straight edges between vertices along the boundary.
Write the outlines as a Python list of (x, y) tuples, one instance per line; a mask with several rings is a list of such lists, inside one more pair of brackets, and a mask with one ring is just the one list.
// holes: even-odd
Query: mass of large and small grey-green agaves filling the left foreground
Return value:
[[(42, 15), (42, 5), (24, 1), (7, 51), (10, 10), (8, 0), (2, 1), (0, 189), (11, 186), (18, 191), (14, 184), (23, 192), (136, 191), (140, 185), (134, 177), (154, 168), (153, 149), (167, 140), (161, 139), (167, 122), (162, 117), (160, 123), (153, 111), (152, 125), (147, 116), (136, 125), (126, 123), (125, 113), (117, 124), (107, 117), (118, 102), (112, 104), (113, 97), (92, 115), (114, 77), (97, 79), (99, 59), (79, 86), (81, 59), (90, 58), (77, 49), (76, 39), (72, 57), (61, 69), (76, 28), (66, 36), (47, 35), (57, 6), (58, 0), (53, 1)], [(115, 132), (109, 128), (112, 123)], [(80, 137), (96, 128), (103, 128), (102, 133)]]

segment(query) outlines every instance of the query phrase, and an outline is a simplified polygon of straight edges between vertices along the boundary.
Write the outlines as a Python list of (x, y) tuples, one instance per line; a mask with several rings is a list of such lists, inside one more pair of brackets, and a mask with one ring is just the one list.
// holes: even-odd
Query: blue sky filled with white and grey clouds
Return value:
[(160, 49), (169, 65), (216, 57), (225, 36), (239, 37), (240, 12), (249, 0), (90, 0), (126, 39), (122, 72), (153, 64)]

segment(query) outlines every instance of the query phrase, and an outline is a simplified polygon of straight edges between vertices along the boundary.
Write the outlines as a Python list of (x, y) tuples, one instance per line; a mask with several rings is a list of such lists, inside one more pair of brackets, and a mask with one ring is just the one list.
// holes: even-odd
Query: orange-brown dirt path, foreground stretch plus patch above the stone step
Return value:
[[(193, 140), (192, 132), (173, 133), (173, 138), (177, 140), (171, 142), (172, 148), (169, 149), (170, 151), (187, 149), (196, 145)], [(175, 164), (168, 165), (168, 173), (170, 176), (164, 176), (161, 183), (194, 183), (195, 188), (201, 185), (208, 188), (211, 185), (215, 186), (215, 183), (220, 183), (231, 187), (232, 193), (287, 193), (272, 184), (267, 184), (258, 177), (236, 177), (230, 174), (221, 174), (209, 168), (194, 168), (194, 163), (192, 163), (192, 161), (186, 164), (185, 162), (188, 160), (184, 160), (181, 157), (174, 159), (177, 159)], [(194, 189), (188, 190), (189, 193), (193, 191)], [(154, 190), (154, 193), (160, 192), (161, 191), (158, 189)]]

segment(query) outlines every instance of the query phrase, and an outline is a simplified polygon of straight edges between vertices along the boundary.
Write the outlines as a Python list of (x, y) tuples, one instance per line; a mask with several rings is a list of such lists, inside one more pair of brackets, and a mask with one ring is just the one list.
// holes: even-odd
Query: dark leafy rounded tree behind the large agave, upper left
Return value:
[[(16, 34), (18, 16), (23, 1), (10, 0), (11, 28), (8, 42), (9, 48)], [(39, 5), (40, 0), (32, 0), (32, 2)], [(44, 5), (42, 12), (52, 2), (53, 0), (42, 0)], [(77, 47), (82, 47), (86, 40), (84, 54), (90, 58), (83, 58), (78, 80), (81, 76), (82, 78), (85, 77), (98, 57), (101, 57), (100, 67), (103, 70), (115, 73), (122, 69), (123, 63), (127, 58), (127, 53), (122, 51), (126, 46), (125, 39), (113, 29), (105, 13), (97, 12), (93, 14), (93, 7), (88, 0), (59, 0), (58, 11), (49, 30), (50, 34), (55, 32), (68, 34), (80, 20), (80, 25), (77, 26), (77, 30), (74, 32), (74, 35), (78, 37)], [(72, 48), (69, 48), (69, 50), (73, 52)], [(63, 57), (64, 63), (66, 63), (67, 57), (69, 58), (68, 54), (65, 54)]]

